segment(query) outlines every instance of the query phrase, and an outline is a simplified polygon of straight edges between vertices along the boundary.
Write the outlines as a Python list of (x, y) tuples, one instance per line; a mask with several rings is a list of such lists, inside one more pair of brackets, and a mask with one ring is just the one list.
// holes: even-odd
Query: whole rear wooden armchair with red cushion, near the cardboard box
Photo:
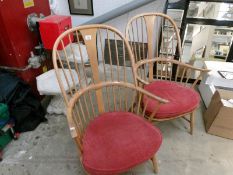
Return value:
[[(146, 13), (133, 17), (127, 24), (126, 38), (136, 59), (134, 68), (139, 85), (169, 101), (152, 117), (148, 115), (151, 116), (157, 101), (143, 101), (142, 105), (147, 106), (146, 118), (166, 121), (182, 117), (190, 123), (192, 134), (194, 113), (200, 101), (194, 87), (208, 70), (174, 59), (181, 56), (181, 42), (175, 22), (165, 14)], [(143, 43), (142, 49), (140, 43)], [(147, 98), (144, 97), (144, 100)], [(186, 115), (190, 115), (190, 118), (185, 118)]]

